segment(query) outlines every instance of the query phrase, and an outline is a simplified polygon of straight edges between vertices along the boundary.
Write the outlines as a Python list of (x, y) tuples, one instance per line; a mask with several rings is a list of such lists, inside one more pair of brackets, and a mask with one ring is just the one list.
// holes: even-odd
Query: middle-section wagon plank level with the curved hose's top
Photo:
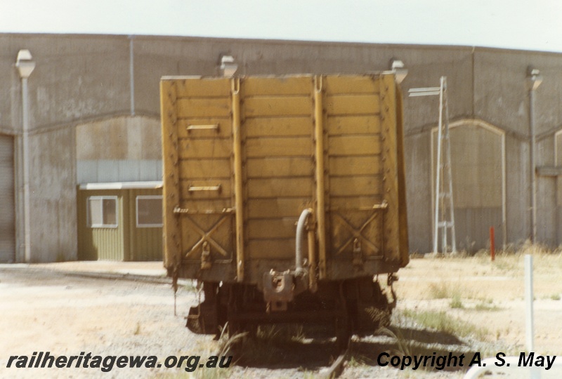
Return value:
[(310, 197), (277, 197), (276, 199), (251, 199), (248, 201), (248, 218), (280, 218), (300, 215), (311, 208)]

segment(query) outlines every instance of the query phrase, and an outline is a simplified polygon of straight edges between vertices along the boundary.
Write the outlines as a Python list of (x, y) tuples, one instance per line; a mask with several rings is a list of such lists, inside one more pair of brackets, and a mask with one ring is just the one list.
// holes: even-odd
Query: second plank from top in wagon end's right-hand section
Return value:
[(326, 96), (325, 107), (328, 116), (351, 114), (379, 114), (378, 95), (333, 95)]

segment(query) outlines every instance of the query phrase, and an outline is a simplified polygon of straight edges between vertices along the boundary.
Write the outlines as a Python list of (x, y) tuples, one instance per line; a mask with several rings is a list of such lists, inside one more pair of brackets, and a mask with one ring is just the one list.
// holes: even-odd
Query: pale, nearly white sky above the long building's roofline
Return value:
[(0, 0), (0, 33), (438, 44), (562, 53), (562, 1)]

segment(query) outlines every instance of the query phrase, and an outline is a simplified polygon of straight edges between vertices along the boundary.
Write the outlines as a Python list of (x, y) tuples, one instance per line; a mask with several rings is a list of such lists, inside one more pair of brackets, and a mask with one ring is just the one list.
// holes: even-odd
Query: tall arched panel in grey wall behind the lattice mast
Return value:
[[(431, 131), (431, 190), (435, 201), (437, 128)], [(450, 124), (452, 194), (457, 250), (476, 252), (490, 247), (490, 227), (495, 246), (506, 241), (505, 135), (479, 120)], [(435, 211), (435, 204), (431, 206)]]

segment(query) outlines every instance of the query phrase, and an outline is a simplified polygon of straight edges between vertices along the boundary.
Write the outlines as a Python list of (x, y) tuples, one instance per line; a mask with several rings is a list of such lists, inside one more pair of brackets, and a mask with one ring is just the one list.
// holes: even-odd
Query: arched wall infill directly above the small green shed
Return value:
[(77, 183), (162, 180), (159, 119), (114, 117), (76, 127)]

